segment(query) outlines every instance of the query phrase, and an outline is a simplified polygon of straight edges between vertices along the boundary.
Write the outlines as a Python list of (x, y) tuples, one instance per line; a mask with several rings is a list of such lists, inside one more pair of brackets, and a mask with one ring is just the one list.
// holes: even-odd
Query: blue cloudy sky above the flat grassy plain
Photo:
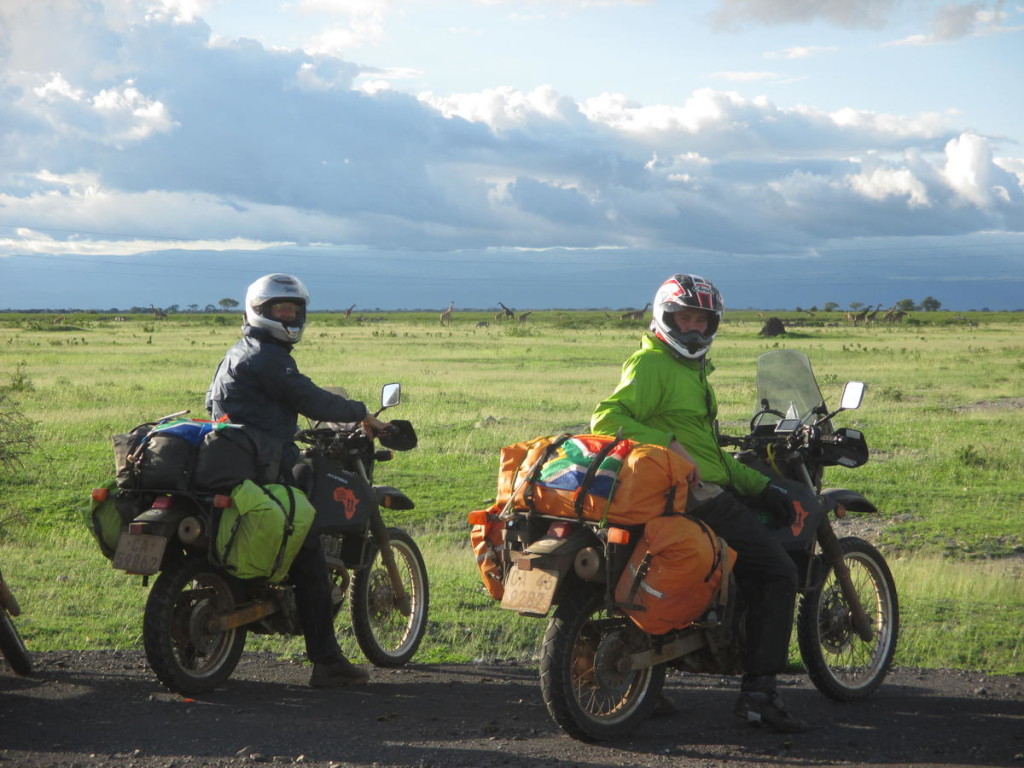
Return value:
[(0, 309), (1024, 308), (1024, 0), (3, 0)]

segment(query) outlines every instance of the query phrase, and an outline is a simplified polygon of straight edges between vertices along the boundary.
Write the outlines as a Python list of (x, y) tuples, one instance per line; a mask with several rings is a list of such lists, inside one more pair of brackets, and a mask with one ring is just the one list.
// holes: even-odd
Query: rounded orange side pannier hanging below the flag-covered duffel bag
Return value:
[(700, 617), (720, 596), (736, 553), (706, 523), (655, 517), (615, 586), (615, 604), (641, 630), (663, 635)]

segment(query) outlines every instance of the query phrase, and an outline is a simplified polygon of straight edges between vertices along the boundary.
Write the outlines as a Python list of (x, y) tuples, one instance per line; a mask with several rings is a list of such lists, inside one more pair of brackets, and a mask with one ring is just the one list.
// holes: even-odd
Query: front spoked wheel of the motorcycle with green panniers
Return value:
[(391, 551), (408, 605), (398, 604), (379, 548), (369, 567), (352, 579), (352, 630), (367, 658), (378, 667), (400, 667), (416, 653), (427, 631), (430, 594), (427, 566), (413, 538), (388, 528)]

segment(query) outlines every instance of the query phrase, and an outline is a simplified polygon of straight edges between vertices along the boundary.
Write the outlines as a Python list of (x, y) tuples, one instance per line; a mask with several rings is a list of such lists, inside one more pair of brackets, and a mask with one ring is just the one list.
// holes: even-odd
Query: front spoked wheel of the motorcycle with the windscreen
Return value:
[(850, 701), (874, 692), (889, 672), (899, 634), (899, 604), (889, 565), (862, 539), (840, 540), (843, 559), (871, 626), (871, 639), (856, 633), (850, 606), (831, 567), (820, 589), (800, 600), (797, 638), (814, 686), (829, 698)]

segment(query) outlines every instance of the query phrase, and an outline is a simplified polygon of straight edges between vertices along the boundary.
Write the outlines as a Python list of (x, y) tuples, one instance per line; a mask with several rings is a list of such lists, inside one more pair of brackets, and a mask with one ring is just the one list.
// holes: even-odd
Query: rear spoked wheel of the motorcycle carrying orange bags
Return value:
[(544, 633), (541, 692), (548, 713), (573, 738), (603, 740), (633, 731), (654, 709), (665, 665), (629, 668), (650, 638), (626, 618), (608, 617), (601, 590), (573, 593)]

